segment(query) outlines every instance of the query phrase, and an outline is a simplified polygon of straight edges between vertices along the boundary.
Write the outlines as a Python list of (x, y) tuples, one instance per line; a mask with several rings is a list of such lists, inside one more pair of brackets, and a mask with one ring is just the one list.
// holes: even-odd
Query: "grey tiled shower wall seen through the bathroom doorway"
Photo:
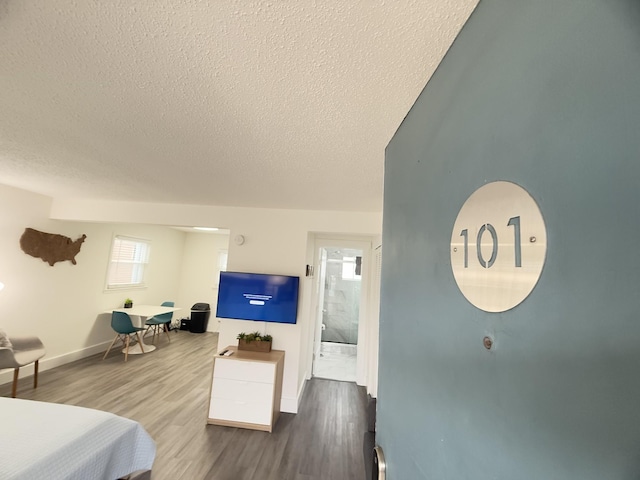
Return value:
[(342, 279), (342, 263), (327, 263), (323, 342), (358, 343), (360, 281)]

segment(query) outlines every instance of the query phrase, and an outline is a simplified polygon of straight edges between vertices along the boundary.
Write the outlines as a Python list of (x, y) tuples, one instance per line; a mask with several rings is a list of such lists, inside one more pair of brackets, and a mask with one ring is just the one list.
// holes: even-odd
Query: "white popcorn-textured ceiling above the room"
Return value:
[(0, 183), (380, 211), (384, 149), (477, 0), (0, 0)]

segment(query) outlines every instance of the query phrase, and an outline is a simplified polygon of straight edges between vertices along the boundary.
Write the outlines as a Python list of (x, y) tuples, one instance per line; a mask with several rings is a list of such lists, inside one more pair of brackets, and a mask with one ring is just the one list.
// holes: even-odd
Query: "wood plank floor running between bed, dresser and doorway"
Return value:
[[(362, 480), (366, 394), (353, 383), (312, 379), (297, 415), (273, 433), (207, 425), (215, 333), (171, 333), (148, 355), (120, 349), (25, 377), (18, 397), (113, 412), (153, 437), (153, 480)], [(149, 340), (147, 340), (149, 341)], [(11, 384), (0, 385), (11, 395)]]

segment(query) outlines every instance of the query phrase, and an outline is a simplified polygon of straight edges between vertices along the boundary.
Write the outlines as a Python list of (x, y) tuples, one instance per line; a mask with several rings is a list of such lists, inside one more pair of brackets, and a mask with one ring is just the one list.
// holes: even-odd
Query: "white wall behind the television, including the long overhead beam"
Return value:
[[(194, 205), (99, 202), (56, 199), (52, 217), (64, 220), (152, 223), (175, 226), (213, 226), (231, 231), (230, 238), (244, 235), (243, 245), (229, 243), (229, 270), (296, 275), (304, 279), (309, 261), (309, 232), (340, 235), (376, 236), (382, 232), (381, 212), (330, 212), (273, 210)], [(260, 323), (261, 331), (273, 335), (273, 348), (284, 350), (285, 369), (281, 409), (297, 412), (311, 355), (308, 335), (311, 289), (303, 281), (298, 323), (278, 325)], [(248, 330), (246, 321), (223, 319), (219, 345), (236, 344), (236, 335)]]

